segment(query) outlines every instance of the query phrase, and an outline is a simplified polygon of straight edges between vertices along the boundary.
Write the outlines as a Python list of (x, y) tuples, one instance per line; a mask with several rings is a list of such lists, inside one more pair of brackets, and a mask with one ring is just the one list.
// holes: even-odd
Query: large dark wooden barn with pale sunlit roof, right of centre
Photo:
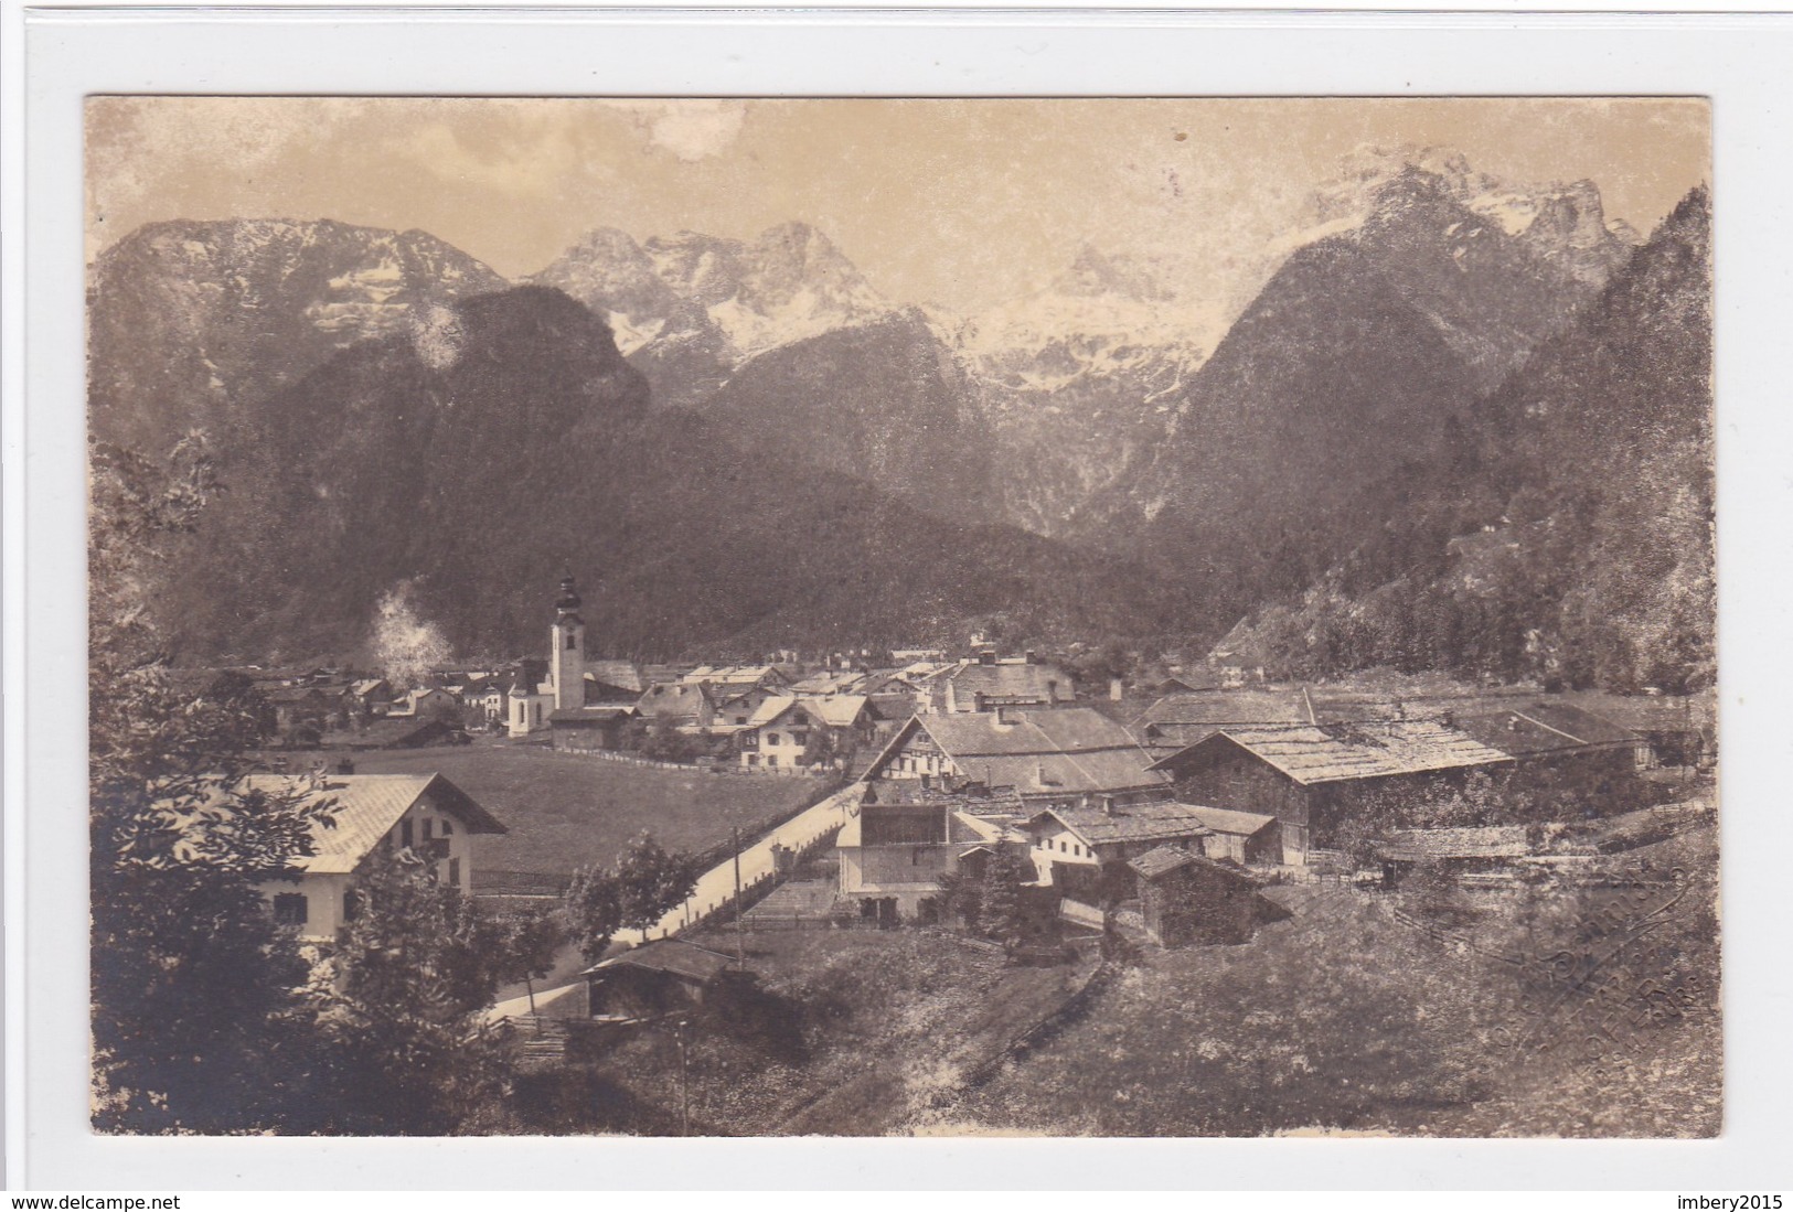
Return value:
[(1511, 764), (1443, 723), (1397, 719), (1226, 726), (1151, 769), (1176, 780), (1178, 798), (1275, 816), (1284, 861), (1305, 862), (1370, 791)]

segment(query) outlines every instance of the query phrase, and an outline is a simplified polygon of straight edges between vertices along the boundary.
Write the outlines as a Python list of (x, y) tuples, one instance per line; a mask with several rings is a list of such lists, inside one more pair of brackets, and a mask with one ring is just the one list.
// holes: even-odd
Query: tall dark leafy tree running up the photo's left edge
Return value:
[(258, 886), (290, 879), (330, 803), (242, 789), (255, 696), (183, 690), (149, 617), (149, 567), (219, 491), (203, 436), (163, 464), (93, 445), (90, 470), (93, 1122), (305, 1131), (307, 965)]

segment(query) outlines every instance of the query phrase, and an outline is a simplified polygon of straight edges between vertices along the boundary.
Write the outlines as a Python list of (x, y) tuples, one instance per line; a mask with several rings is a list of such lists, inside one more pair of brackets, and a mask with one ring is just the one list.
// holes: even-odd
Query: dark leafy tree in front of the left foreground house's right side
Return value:
[(330, 1040), (333, 1130), (448, 1135), (507, 1078), (484, 1022), (502, 932), (411, 852), (375, 850), (337, 934), (335, 986), (314, 988)]

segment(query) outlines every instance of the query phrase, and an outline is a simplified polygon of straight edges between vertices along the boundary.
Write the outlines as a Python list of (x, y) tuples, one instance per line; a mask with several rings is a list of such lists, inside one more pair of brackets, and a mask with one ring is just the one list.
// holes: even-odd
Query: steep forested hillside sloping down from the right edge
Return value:
[(1370, 665), (1605, 688), (1709, 687), (1711, 201), (1691, 194), (1461, 429), (1451, 475), (1225, 647), (1298, 676)]

